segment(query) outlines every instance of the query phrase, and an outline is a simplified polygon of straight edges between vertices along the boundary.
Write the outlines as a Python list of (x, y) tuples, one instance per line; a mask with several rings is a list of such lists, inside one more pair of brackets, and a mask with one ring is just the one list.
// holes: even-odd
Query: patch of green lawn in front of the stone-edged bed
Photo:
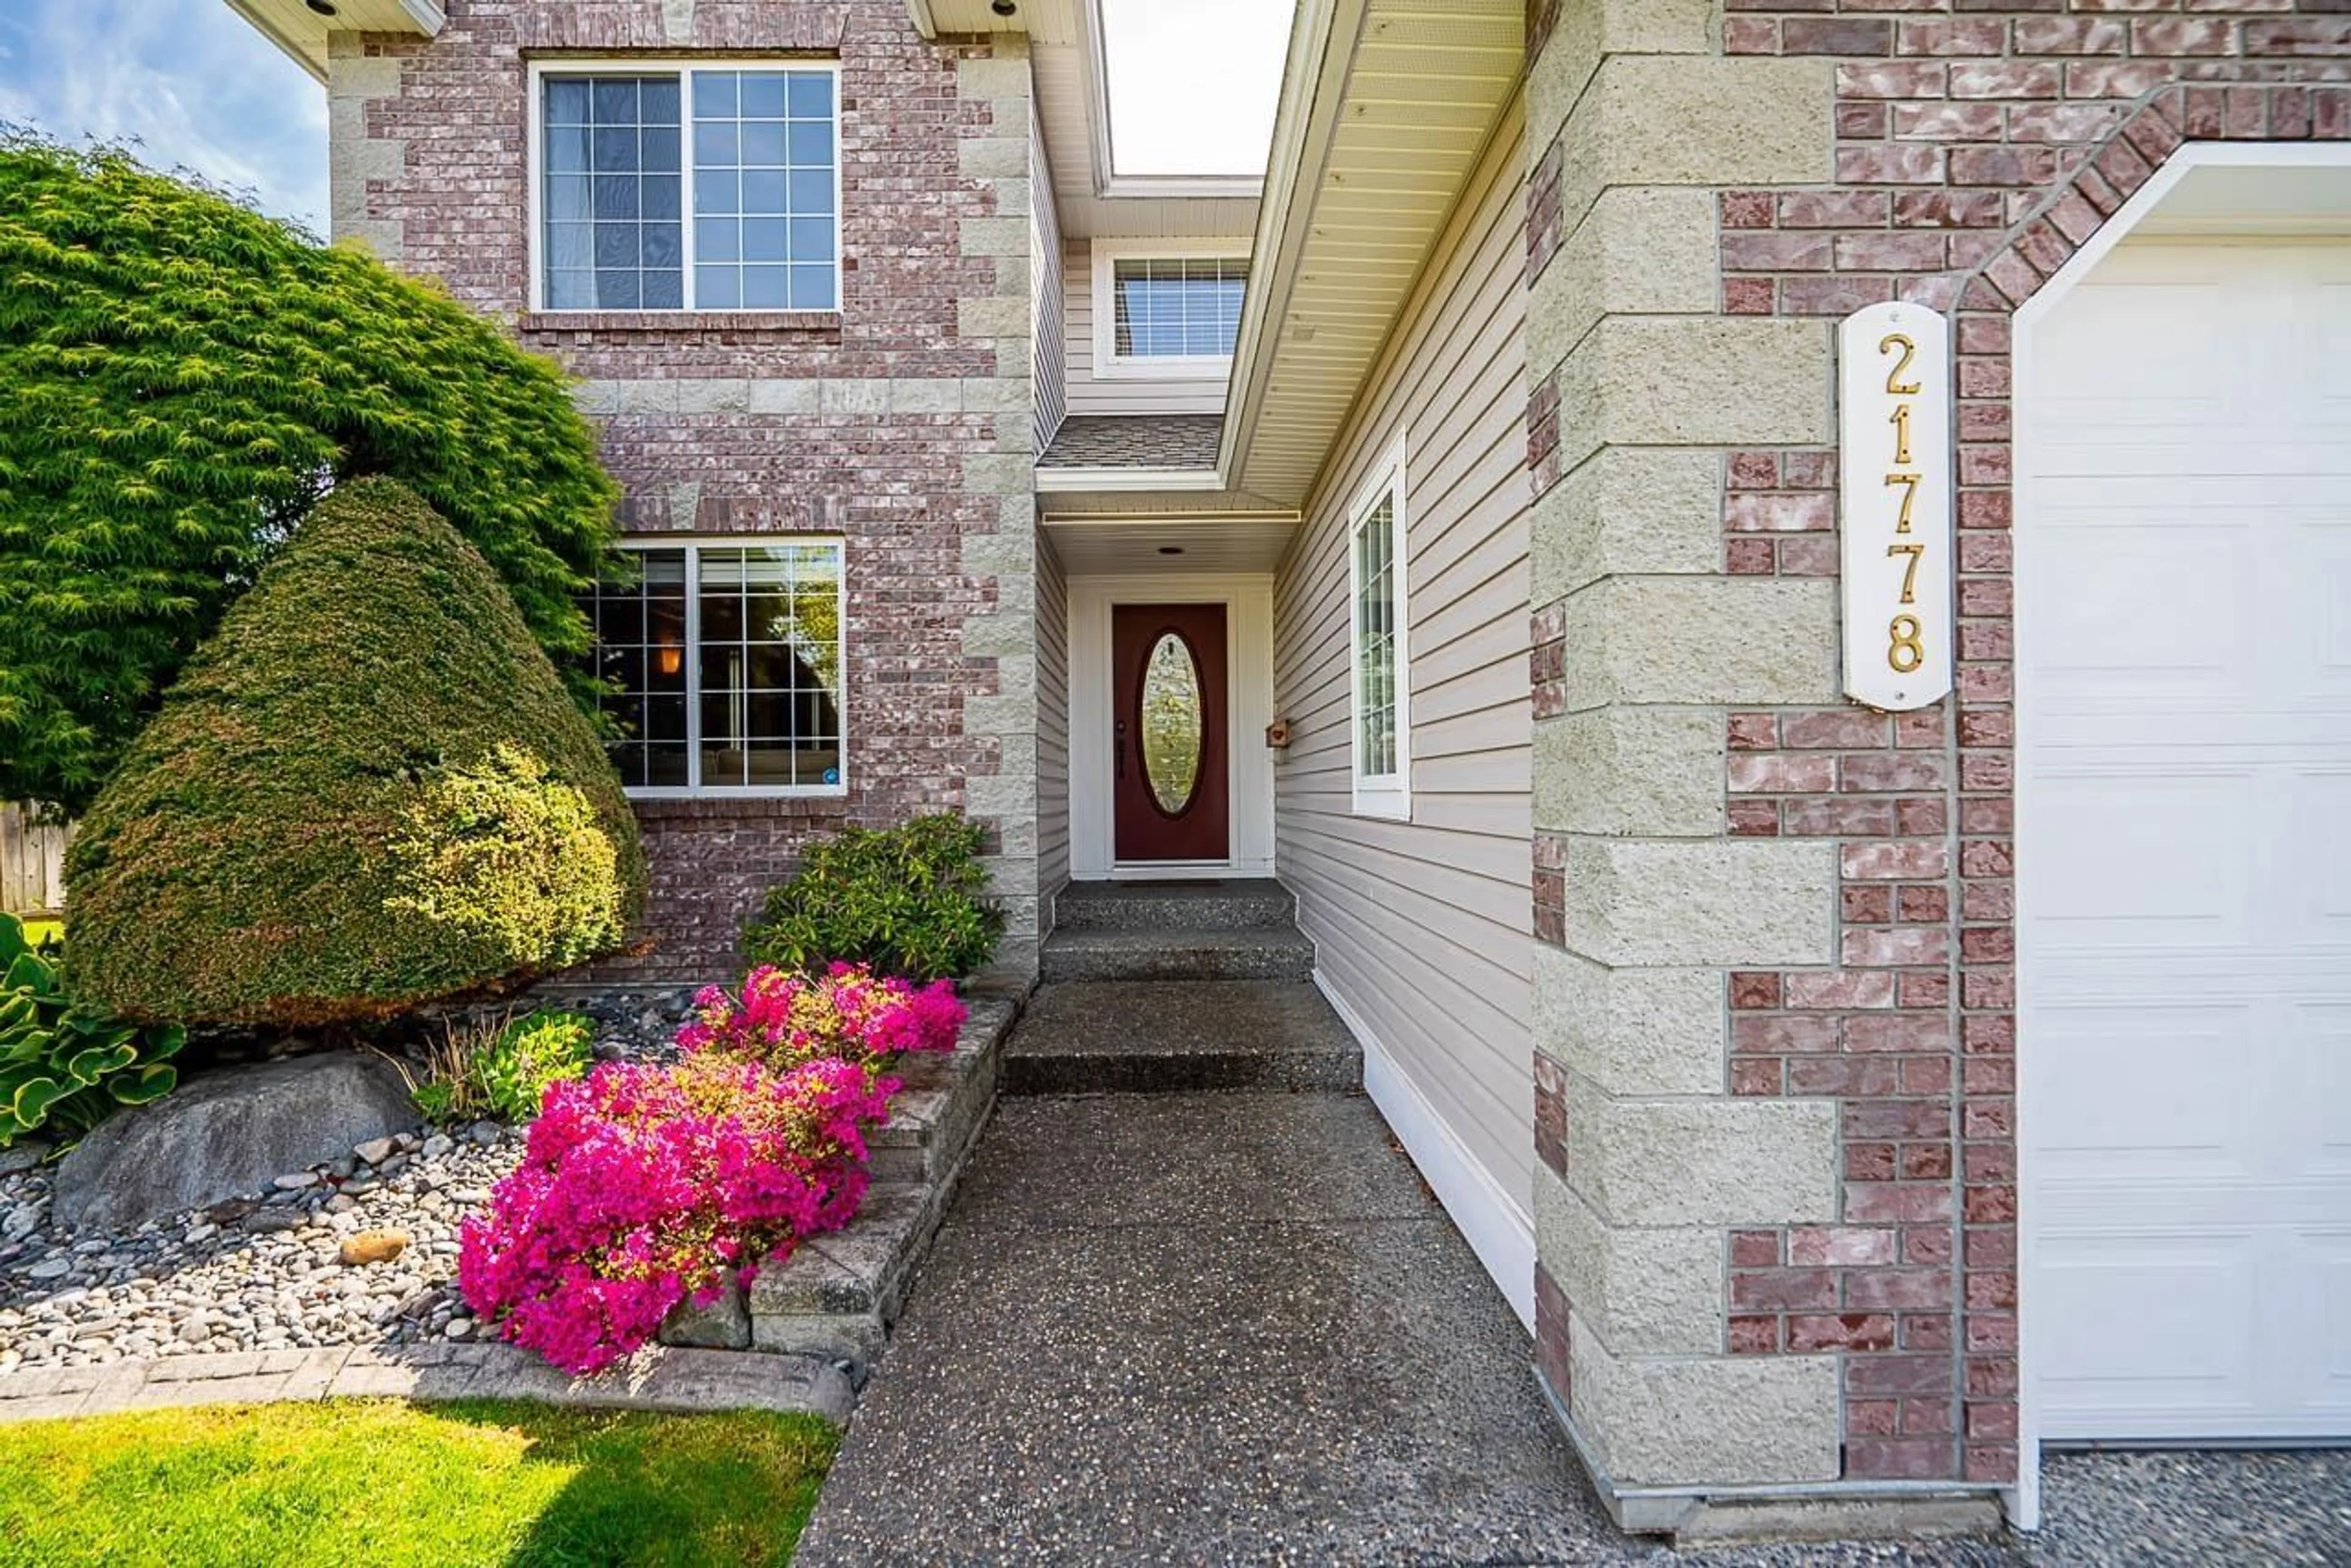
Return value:
[(348, 1399), (0, 1427), (0, 1563), (788, 1563), (832, 1427)]

